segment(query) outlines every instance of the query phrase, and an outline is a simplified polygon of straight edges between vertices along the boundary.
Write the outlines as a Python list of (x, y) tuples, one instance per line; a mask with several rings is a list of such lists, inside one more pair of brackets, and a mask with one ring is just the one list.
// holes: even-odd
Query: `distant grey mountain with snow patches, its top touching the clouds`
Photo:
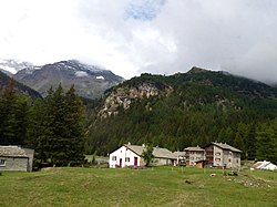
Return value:
[(60, 83), (64, 90), (72, 84), (80, 96), (95, 99), (103, 95), (104, 91), (121, 83), (124, 79), (111, 71), (98, 66), (80, 63), (75, 60), (60, 61), (43, 66), (28, 66), (19, 71), (14, 79), (42, 95)]

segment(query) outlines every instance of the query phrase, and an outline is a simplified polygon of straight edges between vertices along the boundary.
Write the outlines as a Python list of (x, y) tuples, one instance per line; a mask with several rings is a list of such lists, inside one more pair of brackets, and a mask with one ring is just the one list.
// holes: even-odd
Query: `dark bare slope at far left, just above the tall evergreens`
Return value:
[[(2, 73), (0, 71), (0, 90), (6, 87), (8, 85), (8, 83), (10, 82), (11, 77), (8, 76), (7, 74)], [(17, 81), (14, 81), (14, 90), (21, 94), (28, 95), (31, 99), (35, 100), (38, 97), (41, 97), (40, 93), (30, 89), (29, 86), (19, 83)]]

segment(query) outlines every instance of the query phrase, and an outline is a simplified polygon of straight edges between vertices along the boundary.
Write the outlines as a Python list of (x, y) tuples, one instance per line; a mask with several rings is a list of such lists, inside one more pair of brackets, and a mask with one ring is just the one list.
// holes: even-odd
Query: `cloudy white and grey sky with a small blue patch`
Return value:
[(0, 0), (0, 58), (277, 82), (276, 0)]

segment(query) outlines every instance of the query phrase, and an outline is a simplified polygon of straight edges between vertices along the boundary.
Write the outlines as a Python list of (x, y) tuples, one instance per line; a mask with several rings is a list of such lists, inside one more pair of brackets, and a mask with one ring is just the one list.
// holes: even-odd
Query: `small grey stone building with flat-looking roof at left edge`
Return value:
[(0, 146), (0, 170), (31, 172), (34, 151), (20, 146)]

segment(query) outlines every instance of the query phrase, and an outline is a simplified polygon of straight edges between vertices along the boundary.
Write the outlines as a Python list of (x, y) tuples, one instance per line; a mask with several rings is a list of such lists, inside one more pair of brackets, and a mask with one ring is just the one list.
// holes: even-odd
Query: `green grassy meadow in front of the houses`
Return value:
[[(215, 173), (215, 177), (209, 174)], [(3, 172), (0, 206), (276, 206), (277, 173), (156, 167)]]

